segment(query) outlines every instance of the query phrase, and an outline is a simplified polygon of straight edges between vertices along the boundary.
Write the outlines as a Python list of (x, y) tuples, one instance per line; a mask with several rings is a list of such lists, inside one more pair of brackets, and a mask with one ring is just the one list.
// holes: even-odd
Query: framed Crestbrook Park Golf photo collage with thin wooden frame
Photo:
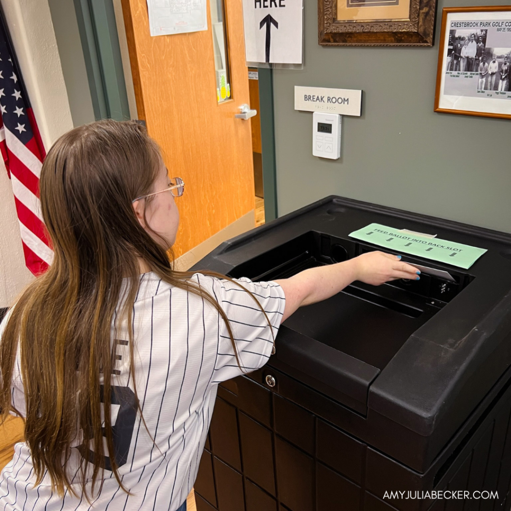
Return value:
[(511, 119), (511, 6), (442, 13), (435, 112)]

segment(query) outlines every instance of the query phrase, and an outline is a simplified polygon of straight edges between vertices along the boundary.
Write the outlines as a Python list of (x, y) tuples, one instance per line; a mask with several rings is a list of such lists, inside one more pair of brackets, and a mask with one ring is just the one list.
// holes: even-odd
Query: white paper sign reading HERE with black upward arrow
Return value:
[(247, 62), (301, 64), (303, 0), (243, 0)]

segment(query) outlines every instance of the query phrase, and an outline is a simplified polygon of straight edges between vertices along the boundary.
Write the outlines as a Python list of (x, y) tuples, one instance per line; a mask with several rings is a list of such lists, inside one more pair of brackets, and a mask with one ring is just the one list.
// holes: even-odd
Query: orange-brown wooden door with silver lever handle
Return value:
[(254, 210), (250, 121), (235, 119), (249, 103), (242, 3), (225, 2), (232, 99), (223, 103), (209, 0), (207, 31), (156, 37), (149, 34), (146, 0), (122, 6), (138, 117), (160, 145), (170, 177), (185, 182), (176, 200), (179, 257)]

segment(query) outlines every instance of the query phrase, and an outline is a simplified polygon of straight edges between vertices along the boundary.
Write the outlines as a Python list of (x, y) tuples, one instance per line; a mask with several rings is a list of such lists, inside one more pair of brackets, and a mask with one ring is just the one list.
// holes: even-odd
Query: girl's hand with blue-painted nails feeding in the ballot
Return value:
[(356, 280), (380, 286), (384, 282), (395, 281), (398, 278), (419, 280), (421, 273), (410, 264), (400, 261), (401, 256), (391, 255), (380, 251), (367, 252), (353, 259)]

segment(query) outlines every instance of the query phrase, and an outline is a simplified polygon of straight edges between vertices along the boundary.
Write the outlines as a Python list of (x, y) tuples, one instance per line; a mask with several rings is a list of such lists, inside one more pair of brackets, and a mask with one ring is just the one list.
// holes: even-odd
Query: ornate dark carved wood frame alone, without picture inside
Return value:
[(408, 20), (339, 21), (337, 0), (318, 0), (321, 46), (432, 46), (436, 0), (410, 0)]

